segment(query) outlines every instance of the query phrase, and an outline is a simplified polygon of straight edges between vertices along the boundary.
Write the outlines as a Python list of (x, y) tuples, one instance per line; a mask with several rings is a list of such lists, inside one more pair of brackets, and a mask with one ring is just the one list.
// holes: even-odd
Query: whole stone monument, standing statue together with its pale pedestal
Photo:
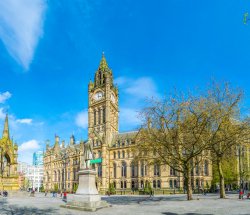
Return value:
[(79, 185), (76, 193), (68, 197), (68, 202), (62, 207), (78, 209), (84, 211), (96, 211), (110, 205), (106, 201), (101, 201), (101, 197), (96, 189), (96, 171), (92, 168), (90, 160), (93, 159), (92, 146), (90, 141), (83, 144), (83, 155), (79, 175)]

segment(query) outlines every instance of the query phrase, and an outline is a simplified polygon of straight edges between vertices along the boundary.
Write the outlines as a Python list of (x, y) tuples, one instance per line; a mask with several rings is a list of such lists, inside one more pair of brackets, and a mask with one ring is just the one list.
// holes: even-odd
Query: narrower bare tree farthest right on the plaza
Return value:
[(244, 144), (249, 137), (249, 121), (243, 120), (240, 114), (242, 95), (242, 91), (231, 89), (227, 83), (213, 83), (207, 92), (206, 100), (211, 107), (208, 144), (219, 173), (220, 198), (225, 198), (222, 161), (232, 153), (232, 149)]

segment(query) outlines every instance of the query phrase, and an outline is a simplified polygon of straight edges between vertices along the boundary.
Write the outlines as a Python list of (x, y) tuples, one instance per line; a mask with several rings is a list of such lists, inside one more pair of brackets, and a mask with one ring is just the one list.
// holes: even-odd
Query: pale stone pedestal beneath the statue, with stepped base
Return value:
[(98, 209), (109, 207), (106, 201), (101, 201), (95, 184), (95, 170), (85, 169), (78, 172), (79, 185), (75, 195), (68, 197), (65, 208), (96, 211)]

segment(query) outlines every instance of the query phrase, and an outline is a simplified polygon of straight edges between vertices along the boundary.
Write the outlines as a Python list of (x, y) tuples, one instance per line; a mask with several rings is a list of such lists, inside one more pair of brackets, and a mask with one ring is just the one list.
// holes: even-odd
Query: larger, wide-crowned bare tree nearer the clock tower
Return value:
[(192, 200), (192, 163), (202, 160), (208, 149), (210, 107), (202, 97), (174, 96), (150, 100), (141, 112), (144, 122), (137, 136), (137, 156), (169, 165), (183, 175), (187, 200)]

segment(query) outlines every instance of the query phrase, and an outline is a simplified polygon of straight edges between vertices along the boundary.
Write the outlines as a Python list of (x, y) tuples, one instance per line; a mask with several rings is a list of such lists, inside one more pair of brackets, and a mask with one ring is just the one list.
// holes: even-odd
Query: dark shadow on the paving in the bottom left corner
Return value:
[(36, 208), (36, 207), (20, 207), (17, 205), (10, 205), (7, 202), (7, 199), (0, 200), (1, 212), (2, 215), (23, 215), (23, 214), (36, 214), (36, 215), (44, 215), (44, 214), (59, 214), (58, 209), (54, 208)]

